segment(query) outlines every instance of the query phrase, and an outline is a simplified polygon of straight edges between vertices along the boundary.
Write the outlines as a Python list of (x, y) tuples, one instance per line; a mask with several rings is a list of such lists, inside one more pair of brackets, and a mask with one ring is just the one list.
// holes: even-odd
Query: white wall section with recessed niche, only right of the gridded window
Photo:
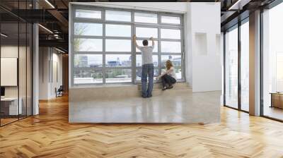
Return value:
[[(192, 68), (192, 74), (189, 72), (187, 75), (192, 77), (189, 80), (192, 82), (192, 91), (221, 90), (221, 53), (216, 52), (220, 50), (216, 48), (221, 27), (220, 3), (188, 3), (187, 10), (187, 25), (190, 25), (187, 27), (187, 61)], [(205, 39), (197, 40), (200, 34), (206, 35), (206, 42)], [(197, 47), (207, 47), (204, 49), (207, 50), (206, 54), (200, 54)]]

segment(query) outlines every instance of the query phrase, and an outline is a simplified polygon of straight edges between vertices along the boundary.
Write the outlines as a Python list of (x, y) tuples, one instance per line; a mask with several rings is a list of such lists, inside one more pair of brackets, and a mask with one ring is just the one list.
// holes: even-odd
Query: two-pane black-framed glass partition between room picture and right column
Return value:
[(224, 32), (224, 106), (249, 111), (248, 18)]

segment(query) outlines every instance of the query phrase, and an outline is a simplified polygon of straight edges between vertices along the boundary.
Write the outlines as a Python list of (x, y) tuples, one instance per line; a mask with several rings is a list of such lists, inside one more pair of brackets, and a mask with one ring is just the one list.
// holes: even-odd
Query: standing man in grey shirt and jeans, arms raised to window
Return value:
[[(152, 61), (152, 51), (154, 50), (154, 38), (151, 37), (152, 46), (144, 39), (142, 41), (143, 47), (137, 44), (137, 37), (134, 35), (134, 45), (141, 51), (142, 69), (141, 69), (141, 97), (152, 97), (151, 92), (154, 88), (154, 63)], [(147, 84), (147, 75), (149, 75), (149, 85)], [(146, 89), (147, 87), (147, 89)]]

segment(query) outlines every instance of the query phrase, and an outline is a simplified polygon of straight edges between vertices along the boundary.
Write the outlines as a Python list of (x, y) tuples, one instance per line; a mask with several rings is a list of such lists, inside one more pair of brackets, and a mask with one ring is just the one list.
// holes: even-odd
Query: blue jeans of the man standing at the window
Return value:
[[(147, 75), (149, 75), (149, 86), (147, 87)], [(147, 89), (146, 89), (147, 87)], [(141, 97), (151, 97), (152, 89), (154, 88), (154, 64), (144, 64), (141, 69)]]

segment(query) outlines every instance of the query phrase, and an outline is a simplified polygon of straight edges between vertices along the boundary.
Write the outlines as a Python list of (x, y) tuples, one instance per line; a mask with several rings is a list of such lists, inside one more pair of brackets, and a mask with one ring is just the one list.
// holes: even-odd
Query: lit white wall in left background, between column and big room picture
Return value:
[(39, 61), (39, 99), (52, 99), (63, 81), (62, 54), (52, 47), (40, 47)]

